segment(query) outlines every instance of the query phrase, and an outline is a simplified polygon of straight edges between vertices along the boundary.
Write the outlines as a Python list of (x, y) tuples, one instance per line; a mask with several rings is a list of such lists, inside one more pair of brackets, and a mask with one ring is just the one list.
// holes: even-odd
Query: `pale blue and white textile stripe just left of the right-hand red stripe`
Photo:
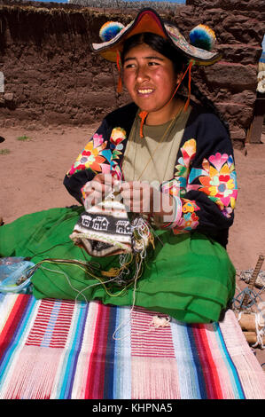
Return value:
[(181, 399), (200, 399), (199, 379), (191, 351), (187, 326), (172, 319), (171, 334)]

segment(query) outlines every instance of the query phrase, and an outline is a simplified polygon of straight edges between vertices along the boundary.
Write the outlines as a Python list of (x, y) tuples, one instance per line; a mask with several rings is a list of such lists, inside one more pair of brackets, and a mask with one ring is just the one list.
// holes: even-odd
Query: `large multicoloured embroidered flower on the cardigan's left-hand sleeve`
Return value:
[(73, 175), (75, 172), (82, 169), (92, 169), (96, 172), (102, 171), (102, 164), (106, 161), (102, 156), (102, 152), (106, 147), (106, 142), (102, 135), (93, 136), (92, 140), (85, 146), (82, 153), (80, 153), (68, 172), (68, 175)]

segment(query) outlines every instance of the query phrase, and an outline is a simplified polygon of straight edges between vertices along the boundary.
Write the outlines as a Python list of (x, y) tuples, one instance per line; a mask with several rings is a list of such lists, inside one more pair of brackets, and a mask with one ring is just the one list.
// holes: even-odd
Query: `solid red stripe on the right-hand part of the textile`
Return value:
[(203, 324), (197, 324), (192, 326), (192, 330), (206, 382), (207, 398), (223, 399), (221, 382), (208, 343), (206, 328)]

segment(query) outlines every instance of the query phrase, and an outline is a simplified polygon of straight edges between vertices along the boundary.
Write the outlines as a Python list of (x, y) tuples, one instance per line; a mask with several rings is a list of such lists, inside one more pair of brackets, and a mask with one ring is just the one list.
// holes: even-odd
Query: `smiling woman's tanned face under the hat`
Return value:
[(145, 43), (138, 45), (124, 57), (123, 80), (141, 110), (156, 115), (157, 120), (165, 118), (164, 122), (167, 121), (168, 112), (175, 106), (174, 100), (168, 102), (178, 82), (170, 59)]

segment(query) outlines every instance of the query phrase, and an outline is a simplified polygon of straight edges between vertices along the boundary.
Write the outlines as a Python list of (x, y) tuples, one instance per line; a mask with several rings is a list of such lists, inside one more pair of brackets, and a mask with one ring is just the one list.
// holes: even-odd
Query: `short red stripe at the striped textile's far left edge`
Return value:
[(10, 312), (8, 319), (4, 325), (4, 328), (0, 334), (0, 359), (4, 354), (4, 350), (8, 346), (9, 342), (12, 340), (13, 335), (16, 332), (16, 329), (19, 325), (25, 308), (27, 307), (29, 296), (25, 294), (18, 295), (16, 302), (12, 306), (12, 311)]

